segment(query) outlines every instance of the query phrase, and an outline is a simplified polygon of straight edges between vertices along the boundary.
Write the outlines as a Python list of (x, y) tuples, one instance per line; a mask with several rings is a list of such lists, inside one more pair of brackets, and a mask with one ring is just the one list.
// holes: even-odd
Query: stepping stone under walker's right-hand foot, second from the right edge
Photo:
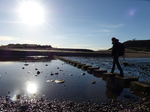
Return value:
[(138, 78), (130, 75), (124, 75), (124, 77), (116, 76), (116, 80), (119, 82), (121, 87), (129, 88), (131, 82), (138, 81)]

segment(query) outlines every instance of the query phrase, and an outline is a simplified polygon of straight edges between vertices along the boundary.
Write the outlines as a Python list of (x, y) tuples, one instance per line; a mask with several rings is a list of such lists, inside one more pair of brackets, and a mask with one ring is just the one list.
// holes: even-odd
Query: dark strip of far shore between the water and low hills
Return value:
[[(0, 49), (0, 58), (24, 58), (28, 56), (90, 56), (90, 57), (111, 57), (110, 50), (85, 52), (85, 51), (57, 51), (38, 49)], [(125, 58), (150, 58), (150, 52), (126, 50)]]

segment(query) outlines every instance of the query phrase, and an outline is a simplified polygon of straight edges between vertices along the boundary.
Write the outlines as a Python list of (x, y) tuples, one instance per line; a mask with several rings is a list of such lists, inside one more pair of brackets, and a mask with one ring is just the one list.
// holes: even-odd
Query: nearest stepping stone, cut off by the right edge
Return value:
[(150, 82), (148, 81), (133, 81), (131, 82), (130, 91), (136, 95), (150, 95)]

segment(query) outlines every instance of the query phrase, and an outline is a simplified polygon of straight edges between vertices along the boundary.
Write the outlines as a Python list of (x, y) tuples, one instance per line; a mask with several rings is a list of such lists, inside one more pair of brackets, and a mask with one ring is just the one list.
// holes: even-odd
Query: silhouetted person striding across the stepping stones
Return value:
[(114, 70), (115, 70), (115, 65), (117, 65), (119, 71), (120, 71), (120, 76), (124, 76), (124, 73), (123, 73), (123, 70), (119, 64), (119, 52), (118, 52), (118, 49), (119, 49), (119, 40), (116, 39), (115, 37), (112, 37), (112, 52), (111, 52), (111, 56), (113, 57), (113, 66), (112, 66), (112, 69), (111, 69), (111, 73), (114, 73)]

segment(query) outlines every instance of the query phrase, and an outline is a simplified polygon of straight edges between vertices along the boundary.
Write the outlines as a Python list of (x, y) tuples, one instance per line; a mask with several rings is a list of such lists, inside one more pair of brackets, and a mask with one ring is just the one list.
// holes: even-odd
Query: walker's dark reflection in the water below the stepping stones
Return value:
[(106, 80), (106, 96), (110, 99), (117, 99), (122, 93), (123, 88), (115, 80), (115, 76), (108, 76)]

